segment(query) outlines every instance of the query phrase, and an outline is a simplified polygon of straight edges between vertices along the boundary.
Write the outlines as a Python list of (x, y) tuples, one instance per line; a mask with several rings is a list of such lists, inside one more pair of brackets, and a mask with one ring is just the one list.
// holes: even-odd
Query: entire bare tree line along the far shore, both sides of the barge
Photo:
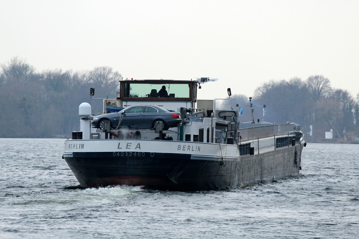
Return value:
[[(89, 88), (94, 87), (99, 97), (113, 98), (121, 78), (111, 67), (37, 72), (18, 57), (0, 67), (0, 137), (71, 137), (79, 129), (82, 102), (90, 102), (93, 110), (102, 109), (102, 100), (90, 99)], [(309, 142), (324, 140), (330, 130), (333, 139), (343, 143), (354, 142), (358, 136), (359, 94), (354, 98), (346, 90), (333, 89), (322, 75), (305, 81), (294, 77), (264, 82), (256, 88), (251, 103), (260, 106), (253, 107), (255, 121), (300, 124)], [(248, 96), (232, 95), (219, 104), (235, 110), (242, 105), (239, 121), (252, 121), (250, 107), (245, 106), (250, 104)]]

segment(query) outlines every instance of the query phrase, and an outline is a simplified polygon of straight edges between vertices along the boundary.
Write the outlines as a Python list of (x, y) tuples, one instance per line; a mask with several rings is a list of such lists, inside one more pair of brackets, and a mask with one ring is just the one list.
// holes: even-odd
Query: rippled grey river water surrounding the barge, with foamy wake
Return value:
[(359, 145), (308, 144), (300, 176), (222, 191), (81, 188), (63, 139), (0, 139), (0, 238), (358, 238)]

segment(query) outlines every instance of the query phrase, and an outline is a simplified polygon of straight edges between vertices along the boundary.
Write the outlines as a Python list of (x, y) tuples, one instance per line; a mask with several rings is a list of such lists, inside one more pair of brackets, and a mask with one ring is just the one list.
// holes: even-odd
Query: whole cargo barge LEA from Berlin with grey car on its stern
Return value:
[[(103, 101), (102, 114), (92, 115), (87, 102), (79, 106), (80, 129), (65, 140), (62, 157), (84, 187), (220, 190), (298, 175), (306, 146), (300, 125), (253, 117), (242, 123), (239, 108), (220, 110), (219, 99), (197, 99), (201, 84), (217, 80), (126, 79), (114, 99), (93, 98), (92, 88), (91, 98)], [(166, 127), (156, 107), (181, 123)], [(99, 118), (106, 119), (101, 126), (94, 124)]]

